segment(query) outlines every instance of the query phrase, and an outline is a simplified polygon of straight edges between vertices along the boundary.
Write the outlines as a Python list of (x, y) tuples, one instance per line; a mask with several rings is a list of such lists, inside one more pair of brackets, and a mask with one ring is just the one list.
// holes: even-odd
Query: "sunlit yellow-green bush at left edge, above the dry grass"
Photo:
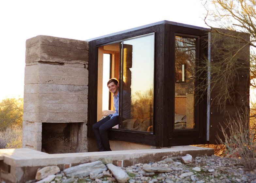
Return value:
[(0, 130), (12, 124), (22, 125), (23, 99), (4, 99), (0, 102)]

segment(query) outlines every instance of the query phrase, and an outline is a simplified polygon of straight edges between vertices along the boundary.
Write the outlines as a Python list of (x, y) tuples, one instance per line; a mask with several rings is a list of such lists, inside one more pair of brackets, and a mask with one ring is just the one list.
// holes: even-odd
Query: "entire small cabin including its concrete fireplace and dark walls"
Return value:
[(96, 151), (92, 125), (114, 110), (110, 78), (120, 83), (112, 150), (216, 144), (220, 125), (248, 116), (250, 50), (242, 40), (249, 35), (169, 21), (87, 41), (30, 38), (23, 148)]

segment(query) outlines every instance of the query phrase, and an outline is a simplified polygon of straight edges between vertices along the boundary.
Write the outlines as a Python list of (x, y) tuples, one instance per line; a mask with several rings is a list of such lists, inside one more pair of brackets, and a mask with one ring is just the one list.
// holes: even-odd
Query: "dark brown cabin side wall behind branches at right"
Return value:
[[(218, 29), (218, 31), (225, 34), (233, 34), (234, 36), (240, 36), (246, 40), (249, 40), (249, 35), (241, 32), (229, 31)], [(234, 55), (234, 53), (241, 49), (245, 43), (230, 37), (220, 36), (218, 33), (213, 31), (211, 33), (211, 62), (218, 63), (222, 61), (224, 53), (227, 55)], [(213, 88), (211, 92), (211, 108), (210, 108), (210, 144), (218, 144), (217, 135), (221, 139), (224, 139), (222, 132), (220, 131), (220, 125), (225, 127), (227, 120), (230, 118), (236, 119), (237, 115), (249, 115), (249, 45), (244, 47), (236, 57), (236, 63), (239, 65), (235, 70), (235, 77), (233, 78), (233, 88), (230, 90), (233, 100), (227, 101), (225, 107), (218, 106), (216, 97), (219, 94), (219, 87)], [(242, 68), (240, 66), (243, 66)], [(223, 65), (227, 67), (227, 65)], [(236, 67), (236, 66), (235, 66)], [(215, 80), (215, 75), (211, 76), (211, 81)], [(225, 84), (225, 83), (220, 83)], [(248, 128), (248, 120), (244, 120), (245, 127)], [(228, 130), (226, 131), (227, 133)]]

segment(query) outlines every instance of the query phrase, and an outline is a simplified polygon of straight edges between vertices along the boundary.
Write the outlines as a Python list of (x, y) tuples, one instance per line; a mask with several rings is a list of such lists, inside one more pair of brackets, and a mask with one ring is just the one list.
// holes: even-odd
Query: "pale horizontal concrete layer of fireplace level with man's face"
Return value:
[(26, 93), (87, 95), (88, 86), (64, 84), (25, 84), (24, 95)]

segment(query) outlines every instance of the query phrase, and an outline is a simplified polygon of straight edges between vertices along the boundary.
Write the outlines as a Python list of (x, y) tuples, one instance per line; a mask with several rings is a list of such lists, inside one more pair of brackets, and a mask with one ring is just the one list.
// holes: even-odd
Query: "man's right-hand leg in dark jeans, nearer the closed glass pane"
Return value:
[(119, 117), (115, 116), (112, 119), (105, 122), (104, 124), (102, 124), (99, 128), (101, 140), (104, 145), (104, 149), (106, 149), (106, 151), (111, 151), (109, 140), (108, 140), (108, 130), (111, 129), (113, 126), (116, 126), (118, 123), (119, 123)]

